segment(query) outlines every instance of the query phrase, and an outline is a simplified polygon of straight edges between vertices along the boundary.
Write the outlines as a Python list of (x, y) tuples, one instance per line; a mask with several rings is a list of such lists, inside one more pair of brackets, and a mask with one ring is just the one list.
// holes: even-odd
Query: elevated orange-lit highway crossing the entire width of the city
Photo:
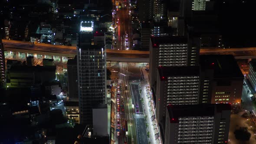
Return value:
[[(9, 59), (26, 59), (34, 56), (36, 59), (54, 59), (56, 62), (66, 62), (76, 55), (75, 46), (60, 46), (45, 43), (30, 43), (2, 39), (5, 55)], [(106, 49), (107, 61), (113, 62), (149, 62), (148, 51)], [(200, 55), (232, 54), (236, 59), (256, 58), (256, 47), (231, 49), (200, 49)]]

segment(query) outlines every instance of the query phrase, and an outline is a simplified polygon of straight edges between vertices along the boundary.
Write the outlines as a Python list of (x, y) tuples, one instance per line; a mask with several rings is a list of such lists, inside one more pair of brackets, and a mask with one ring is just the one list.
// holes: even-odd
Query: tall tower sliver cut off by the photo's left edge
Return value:
[[(1, 35), (0, 35), (1, 38)], [(2, 38), (0, 39), (0, 87), (5, 87), (5, 60)]]

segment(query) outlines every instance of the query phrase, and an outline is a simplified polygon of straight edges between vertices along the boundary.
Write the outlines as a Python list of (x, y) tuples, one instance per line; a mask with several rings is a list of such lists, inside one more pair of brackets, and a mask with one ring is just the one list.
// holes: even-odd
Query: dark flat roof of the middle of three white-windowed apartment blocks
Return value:
[(168, 76), (200, 75), (199, 66), (159, 66), (158, 72), (161, 80), (167, 80)]

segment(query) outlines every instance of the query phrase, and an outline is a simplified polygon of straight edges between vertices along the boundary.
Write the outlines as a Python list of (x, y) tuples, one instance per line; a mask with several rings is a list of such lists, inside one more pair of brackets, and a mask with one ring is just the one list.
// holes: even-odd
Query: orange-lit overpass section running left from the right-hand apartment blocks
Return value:
[[(57, 62), (66, 62), (76, 55), (75, 46), (60, 46), (45, 43), (30, 43), (23, 41), (2, 39), (7, 59), (26, 59), (34, 56), (36, 59), (54, 59)], [(108, 62), (149, 62), (148, 51), (113, 50), (106, 49)]]

